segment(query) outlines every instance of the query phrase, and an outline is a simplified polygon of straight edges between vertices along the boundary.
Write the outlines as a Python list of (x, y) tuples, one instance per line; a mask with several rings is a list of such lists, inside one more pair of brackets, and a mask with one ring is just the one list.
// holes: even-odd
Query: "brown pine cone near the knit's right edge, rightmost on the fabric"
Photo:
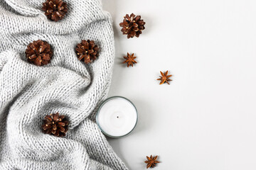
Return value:
[(93, 40), (82, 40), (81, 43), (77, 45), (75, 50), (78, 52), (78, 60), (82, 60), (86, 64), (93, 62), (99, 57), (99, 47), (95, 45)]

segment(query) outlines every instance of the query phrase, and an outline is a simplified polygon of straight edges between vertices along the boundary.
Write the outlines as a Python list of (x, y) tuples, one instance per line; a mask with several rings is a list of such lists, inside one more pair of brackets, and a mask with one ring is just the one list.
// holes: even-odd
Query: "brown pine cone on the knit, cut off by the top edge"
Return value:
[(45, 15), (52, 21), (62, 20), (66, 13), (68, 13), (67, 3), (62, 0), (47, 0), (43, 3), (43, 11)]

